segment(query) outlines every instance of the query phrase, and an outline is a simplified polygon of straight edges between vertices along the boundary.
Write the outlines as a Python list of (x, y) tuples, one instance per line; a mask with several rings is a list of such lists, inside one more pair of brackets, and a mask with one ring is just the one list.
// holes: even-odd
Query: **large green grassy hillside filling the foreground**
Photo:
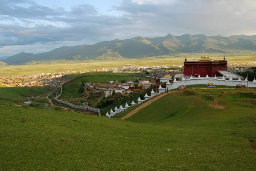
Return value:
[(177, 91), (127, 120), (3, 104), (0, 170), (254, 171), (255, 93)]

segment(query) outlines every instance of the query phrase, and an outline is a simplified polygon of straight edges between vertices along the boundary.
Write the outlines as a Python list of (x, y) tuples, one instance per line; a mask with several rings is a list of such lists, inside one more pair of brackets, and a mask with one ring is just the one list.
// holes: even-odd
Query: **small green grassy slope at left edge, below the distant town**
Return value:
[[(29, 97), (45, 94), (52, 89), (43, 87), (5, 87), (0, 86), (0, 101), (11, 103), (24, 103)], [(33, 99), (30, 99), (31, 101)]]

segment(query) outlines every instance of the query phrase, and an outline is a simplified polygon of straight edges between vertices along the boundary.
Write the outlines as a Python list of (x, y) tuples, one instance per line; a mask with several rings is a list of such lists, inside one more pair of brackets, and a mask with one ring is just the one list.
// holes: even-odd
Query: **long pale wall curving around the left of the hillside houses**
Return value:
[[(86, 73), (85, 73), (85, 74), (81, 74), (81, 75), (78, 75), (78, 76), (76, 76), (76, 77), (73, 77), (73, 78), (71, 78), (70, 80), (64, 82), (63, 84), (66, 84), (67, 82), (73, 81), (73, 80), (75, 80), (75, 79), (77, 79), (77, 78), (79, 78), (79, 77), (86, 76), (86, 75), (88, 75), (88, 76), (90, 76), (90, 75), (115, 75), (115, 76), (123, 76), (123, 75), (125, 75), (125, 76), (127, 75), (127, 76), (128, 76), (128, 75), (133, 75), (133, 76), (140, 76), (140, 75), (136, 75), (136, 74), (86, 74)], [(154, 78), (154, 77), (151, 77), (151, 76), (140, 76), (140, 77)], [(79, 106), (79, 105), (71, 104), (71, 103), (69, 103), (69, 102), (67, 102), (67, 101), (59, 100), (58, 98), (59, 98), (59, 97), (61, 96), (61, 94), (62, 94), (62, 86), (63, 86), (63, 84), (61, 84), (61, 93), (60, 93), (58, 96), (56, 96), (56, 97), (54, 98), (55, 101), (58, 101), (59, 103), (62, 103), (62, 104), (66, 104), (66, 105), (68, 105), (68, 106), (70, 106), (70, 107), (72, 107), (72, 108), (75, 108), (75, 109), (90, 110), (90, 111), (92, 111), (92, 112), (98, 113), (98, 115), (101, 116), (101, 113), (100, 113), (99, 108), (94, 108), (94, 107), (90, 107), (90, 106)]]

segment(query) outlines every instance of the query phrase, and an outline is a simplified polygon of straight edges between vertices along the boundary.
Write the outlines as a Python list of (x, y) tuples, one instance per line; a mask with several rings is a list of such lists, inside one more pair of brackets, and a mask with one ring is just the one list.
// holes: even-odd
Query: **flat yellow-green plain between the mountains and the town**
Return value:
[[(177, 56), (166, 56), (163, 58), (143, 58), (143, 59), (123, 59), (106, 61), (61, 61), (53, 63), (31, 64), (31, 65), (11, 65), (0, 67), (1, 77), (13, 75), (36, 74), (46, 72), (65, 72), (78, 70), (93, 70), (99, 68), (120, 68), (137, 66), (166, 66), (183, 65), (184, 58), (188, 60), (198, 60), (202, 54), (180, 54)], [(209, 54), (214, 60), (221, 60), (224, 54)], [(229, 64), (245, 63), (256, 61), (256, 55), (226, 55)]]

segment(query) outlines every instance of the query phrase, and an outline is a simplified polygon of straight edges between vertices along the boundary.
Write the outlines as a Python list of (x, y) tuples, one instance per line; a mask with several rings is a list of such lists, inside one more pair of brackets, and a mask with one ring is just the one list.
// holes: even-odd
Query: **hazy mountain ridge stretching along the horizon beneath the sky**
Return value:
[(103, 41), (93, 45), (63, 46), (39, 54), (21, 52), (2, 60), (9, 65), (31, 61), (51, 60), (106, 60), (121, 58), (145, 58), (179, 53), (256, 52), (256, 35), (232, 35), (230, 37), (207, 35), (171, 34), (158, 38), (136, 37), (125, 40)]

